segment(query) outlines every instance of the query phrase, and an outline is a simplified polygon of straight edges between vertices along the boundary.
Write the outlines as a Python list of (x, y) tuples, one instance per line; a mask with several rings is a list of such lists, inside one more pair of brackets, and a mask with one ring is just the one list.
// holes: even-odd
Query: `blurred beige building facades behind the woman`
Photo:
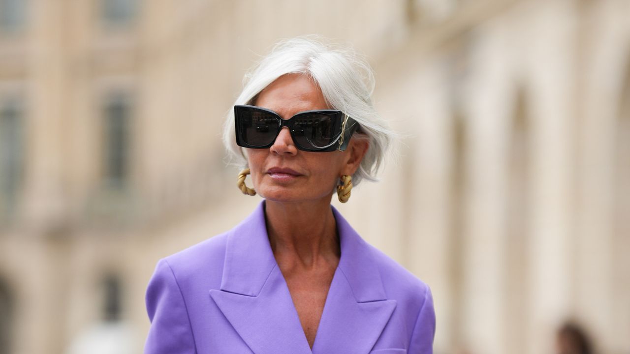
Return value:
[(405, 134), (333, 203), (430, 285), (436, 353), (567, 321), (630, 353), (630, 0), (0, 0), (0, 354), (142, 351), (157, 260), (260, 202), (221, 144), (244, 72), (309, 33)]

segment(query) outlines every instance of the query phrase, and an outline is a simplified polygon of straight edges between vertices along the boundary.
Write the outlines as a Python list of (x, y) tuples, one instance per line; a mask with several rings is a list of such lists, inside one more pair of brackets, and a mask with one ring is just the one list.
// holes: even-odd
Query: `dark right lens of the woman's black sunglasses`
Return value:
[(291, 130), (295, 143), (307, 149), (325, 149), (335, 144), (340, 133), (338, 113), (306, 113), (294, 117)]

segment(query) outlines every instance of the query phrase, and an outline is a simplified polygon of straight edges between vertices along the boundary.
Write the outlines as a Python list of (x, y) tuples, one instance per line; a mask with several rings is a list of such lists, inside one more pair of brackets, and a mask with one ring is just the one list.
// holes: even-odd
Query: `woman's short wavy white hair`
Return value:
[[(374, 74), (367, 61), (354, 50), (325, 44), (315, 36), (278, 42), (270, 54), (245, 74), (243, 91), (234, 105), (253, 105), (258, 94), (278, 77), (295, 73), (311, 77), (331, 108), (343, 111), (360, 124), (360, 132), (353, 137), (361, 133), (367, 135), (369, 148), (352, 176), (352, 184), (356, 186), (364, 178), (376, 181), (396, 134), (374, 110), (370, 98), (374, 91)], [(231, 161), (243, 168), (247, 166), (247, 158), (236, 144), (235, 135), (234, 110), (231, 109), (226, 117), (223, 142)]]

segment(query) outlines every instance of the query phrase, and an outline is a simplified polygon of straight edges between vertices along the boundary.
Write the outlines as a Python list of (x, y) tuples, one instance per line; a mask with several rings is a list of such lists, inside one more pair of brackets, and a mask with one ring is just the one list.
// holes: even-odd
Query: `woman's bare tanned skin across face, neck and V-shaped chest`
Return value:
[[(283, 119), (330, 108), (318, 86), (303, 74), (279, 77), (258, 94), (254, 105), (276, 111)], [(273, 254), (311, 348), (341, 256), (330, 208), (333, 190), (342, 175), (355, 173), (367, 149), (367, 140), (353, 138), (343, 152), (301, 151), (286, 127), (269, 149), (245, 149), (254, 189), (266, 200)], [(294, 172), (273, 173), (272, 168)]]

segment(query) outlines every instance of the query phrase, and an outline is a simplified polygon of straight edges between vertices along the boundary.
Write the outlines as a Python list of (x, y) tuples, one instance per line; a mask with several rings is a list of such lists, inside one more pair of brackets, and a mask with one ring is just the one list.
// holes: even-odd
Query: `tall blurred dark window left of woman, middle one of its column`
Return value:
[(122, 189), (129, 174), (131, 100), (125, 93), (108, 96), (104, 108), (105, 182), (108, 187)]

